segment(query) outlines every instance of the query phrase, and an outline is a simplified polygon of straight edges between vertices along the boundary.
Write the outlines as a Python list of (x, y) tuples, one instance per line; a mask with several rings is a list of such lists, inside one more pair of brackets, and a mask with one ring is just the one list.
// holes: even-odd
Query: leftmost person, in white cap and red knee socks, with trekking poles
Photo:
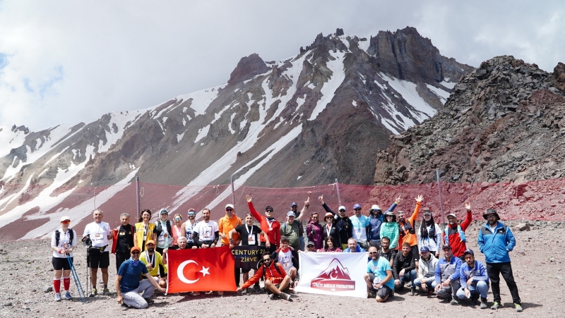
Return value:
[(61, 301), (61, 276), (63, 276), (63, 288), (65, 294), (64, 299), (73, 299), (69, 293), (71, 285), (71, 264), (67, 259), (67, 255), (73, 260), (73, 250), (76, 248), (76, 232), (69, 228), (71, 218), (69, 216), (61, 216), (61, 228), (54, 231), (51, 237), (51, 249), (53, 257), (51, 262), (55, 277), (53, 279), (53, 289), (55, 291), (55, 301)]

